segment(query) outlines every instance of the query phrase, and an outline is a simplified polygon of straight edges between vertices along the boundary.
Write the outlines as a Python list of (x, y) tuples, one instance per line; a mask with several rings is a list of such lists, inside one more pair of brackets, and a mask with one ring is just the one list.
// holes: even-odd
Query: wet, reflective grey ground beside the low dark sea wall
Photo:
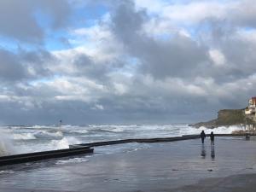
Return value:
[(95, 148), (84, 162), (8, 166), (0, 169), (0, 191), (225, 192), (256, 187), (254, 137), (217, 137), (214, 146), (208, 139), (204, 145), (195, 139), (136, 146), (114, 154), (100, 153), (110, 146)]

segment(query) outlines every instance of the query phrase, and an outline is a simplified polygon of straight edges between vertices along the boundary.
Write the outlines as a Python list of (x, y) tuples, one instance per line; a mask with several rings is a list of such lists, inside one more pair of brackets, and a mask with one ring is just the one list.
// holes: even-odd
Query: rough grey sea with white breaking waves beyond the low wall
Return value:
[[(0, 126), (0, 156), (68, 148), (79, 143), (93, 143), (127, 138), (179, 137), (206, 133), (231, 133), (239, 126), (200, 129), (186, 124), (173, 125), (6, 125)], [(121, 147), (120, 147), (121, 146)], [(99, 154), (137, 150), (147, 145), (130, 143), (98, 148)]]

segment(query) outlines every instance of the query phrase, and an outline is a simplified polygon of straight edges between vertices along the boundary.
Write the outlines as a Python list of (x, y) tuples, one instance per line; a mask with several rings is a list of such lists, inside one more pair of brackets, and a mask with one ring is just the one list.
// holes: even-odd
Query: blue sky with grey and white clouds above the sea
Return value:
[(255, 96), (253, 0), (1, 0), (0, 124), (173, 124)]

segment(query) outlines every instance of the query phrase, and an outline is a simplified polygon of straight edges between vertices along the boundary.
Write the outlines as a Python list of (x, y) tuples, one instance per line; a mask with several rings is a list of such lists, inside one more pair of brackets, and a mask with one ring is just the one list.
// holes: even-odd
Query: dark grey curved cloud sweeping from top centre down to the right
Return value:
[(166, 41), (149, 38), (140, 32), (148, 19), (146, 11), (137, 11), (132, 2), (122, 3), (113, 14), (113, 33), (143, 63), (143, 72), (157, 79), (199, 73), (197, 67), (208, 59), (207, 47), (179, 34)]

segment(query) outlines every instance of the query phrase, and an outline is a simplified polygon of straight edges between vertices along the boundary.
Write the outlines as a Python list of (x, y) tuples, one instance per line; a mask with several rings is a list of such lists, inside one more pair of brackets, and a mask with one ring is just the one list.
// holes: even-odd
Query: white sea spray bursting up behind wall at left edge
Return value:
[(0, 132), (0, 156), (15, 154), (15, 148), (9, 135)]

